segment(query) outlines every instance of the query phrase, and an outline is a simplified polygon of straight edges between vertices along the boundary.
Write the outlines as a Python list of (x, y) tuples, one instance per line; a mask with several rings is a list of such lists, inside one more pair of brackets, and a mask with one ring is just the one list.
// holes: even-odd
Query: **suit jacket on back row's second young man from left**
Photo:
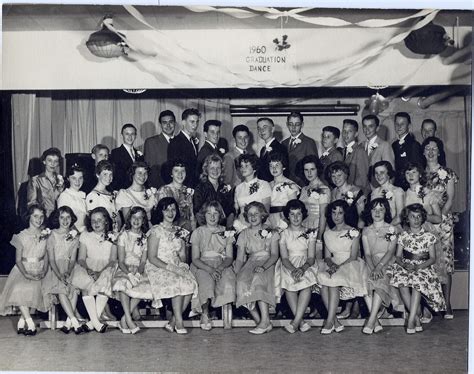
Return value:
[(161, 167), (168, 160), (168, 141), (163, 133), (145, 140), (145, 161), (150, 166), (148, 182), (150, 186), (159, 188), (164, 182), (161, 178)]

